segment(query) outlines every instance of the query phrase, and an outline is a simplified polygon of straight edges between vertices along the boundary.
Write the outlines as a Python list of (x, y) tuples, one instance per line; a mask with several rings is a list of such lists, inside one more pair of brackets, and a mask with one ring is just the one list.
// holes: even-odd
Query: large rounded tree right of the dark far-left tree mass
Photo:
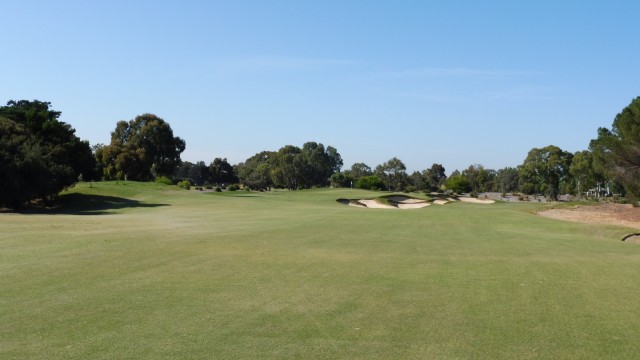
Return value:
[(171, 126), (153, 114), (119, 121), (111, 133), (111, 143), (98, 159), (109, 179), (148, 181), (171, 176), (180, 165), (185, 142), (173, 136)]

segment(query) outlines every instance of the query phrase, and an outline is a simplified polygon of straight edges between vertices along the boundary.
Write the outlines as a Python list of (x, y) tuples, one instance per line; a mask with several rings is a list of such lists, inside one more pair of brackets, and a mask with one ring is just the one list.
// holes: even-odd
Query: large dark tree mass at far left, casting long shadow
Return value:
[(59, 111), (38, 100), (0, 107), (0, 206), (19, 208), (51, 200), (82, 176), (94, 177), (89, 143), (59, 121)]

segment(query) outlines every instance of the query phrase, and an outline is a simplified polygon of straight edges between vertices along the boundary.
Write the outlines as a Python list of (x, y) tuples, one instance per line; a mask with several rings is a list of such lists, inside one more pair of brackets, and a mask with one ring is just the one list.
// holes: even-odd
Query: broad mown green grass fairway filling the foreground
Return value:
[(0, 214), (2, 359), (637, 359), (640, 245), (545, 205), (80, 184)]

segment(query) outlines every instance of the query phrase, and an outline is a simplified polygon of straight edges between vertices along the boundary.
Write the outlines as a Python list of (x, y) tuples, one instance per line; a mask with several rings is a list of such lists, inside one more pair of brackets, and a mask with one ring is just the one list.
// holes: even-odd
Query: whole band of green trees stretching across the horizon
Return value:
[(353, 187), (387, 191), (520, 192), (619, 194), (640, 197), (640, 97), (600, 128), (587, 150), (571, 153), (555, 145), (533, 148), (523, 163), (499, 170), (472, 164), (449, 176), (442, 164), (408, 174), (393, 157), (370, 167), (355, 163), (342, 170), (338, 150), (313, 141), (261, 151), (232, 165), (226, 158), (182, 161), (186, 142), (153, 114), (118, 121), (108, 145), (91, 146), (59, 121), (49, 102), (9, 101), (0, 107), (0, 207), (50, 201), (77, 181), (169, 179), (194, 185), (239, 184), (250, 190)]

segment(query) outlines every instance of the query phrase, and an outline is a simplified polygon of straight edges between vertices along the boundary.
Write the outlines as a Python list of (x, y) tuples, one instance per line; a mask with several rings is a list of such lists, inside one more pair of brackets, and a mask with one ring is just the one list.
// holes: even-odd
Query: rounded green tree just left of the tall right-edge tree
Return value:
[(521, 191), (544, 193), (552, 200), (558, 199), (560, 183), (569, 181), (569, 167), (573, 154), (557, 146), (533, 148), (523, 164), (518, 167)]

